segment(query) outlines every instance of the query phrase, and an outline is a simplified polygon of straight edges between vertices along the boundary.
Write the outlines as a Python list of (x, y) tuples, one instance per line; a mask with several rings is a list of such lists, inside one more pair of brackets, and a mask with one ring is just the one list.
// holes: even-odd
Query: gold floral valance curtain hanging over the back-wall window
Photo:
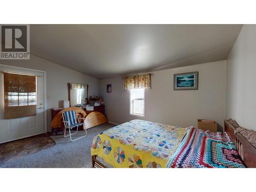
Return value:
[(124, 77), (123, 89), (151, 89), (151, 74)]

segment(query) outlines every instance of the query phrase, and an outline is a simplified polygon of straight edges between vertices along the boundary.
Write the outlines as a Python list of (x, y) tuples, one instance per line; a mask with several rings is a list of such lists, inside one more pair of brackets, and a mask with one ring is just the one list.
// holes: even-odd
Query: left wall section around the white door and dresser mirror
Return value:
[(89, 84), (88, 95), (99, 94), (99, 80), (57, 65), (54, 62), (30, 55), (30, 60), (0, 60), (0, 64), (47, 72), (47, 127), (50, 129), (51, 108), (62, 106), (68, 99), (68, 82)]

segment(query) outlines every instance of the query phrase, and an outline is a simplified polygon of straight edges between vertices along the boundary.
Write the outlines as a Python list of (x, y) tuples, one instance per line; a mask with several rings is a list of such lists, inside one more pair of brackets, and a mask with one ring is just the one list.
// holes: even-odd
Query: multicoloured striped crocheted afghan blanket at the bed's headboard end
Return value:
[(236, 146), (226, 133), (224, 136), (221, 133), (197, 130), (195, 127), (187, 129), (186, 135), (166, 167), (245, 167)]

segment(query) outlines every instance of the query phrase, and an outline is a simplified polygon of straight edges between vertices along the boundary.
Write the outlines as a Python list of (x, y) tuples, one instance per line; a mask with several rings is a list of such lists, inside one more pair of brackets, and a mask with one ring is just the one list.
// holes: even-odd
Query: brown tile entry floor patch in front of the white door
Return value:
[(0, 144), (0, 165), (54, 145), (55, 142), (44, 134)]

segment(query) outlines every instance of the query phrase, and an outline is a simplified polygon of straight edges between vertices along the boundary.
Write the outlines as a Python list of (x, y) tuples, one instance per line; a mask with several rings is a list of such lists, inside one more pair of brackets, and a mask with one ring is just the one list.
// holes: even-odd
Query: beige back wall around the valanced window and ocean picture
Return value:
[[(199, 72), (199, 89), (174, 91), (176, 73)], [(226, 101), (226, 61), (203, 63), (153, 72), (152, 89), (145, 93), (145, 118), (129, 115), (129, 91), (122, 89), (120, 77), (100, 80), (108, 120), (123, 123), (144, 119), (181, 127), (197, 126), (197, 119), (215, 119), (223, 126)], [(112, 84), (112, 93), (106, 93)], [(222, 127), (218, 127), (222, 131)]]

